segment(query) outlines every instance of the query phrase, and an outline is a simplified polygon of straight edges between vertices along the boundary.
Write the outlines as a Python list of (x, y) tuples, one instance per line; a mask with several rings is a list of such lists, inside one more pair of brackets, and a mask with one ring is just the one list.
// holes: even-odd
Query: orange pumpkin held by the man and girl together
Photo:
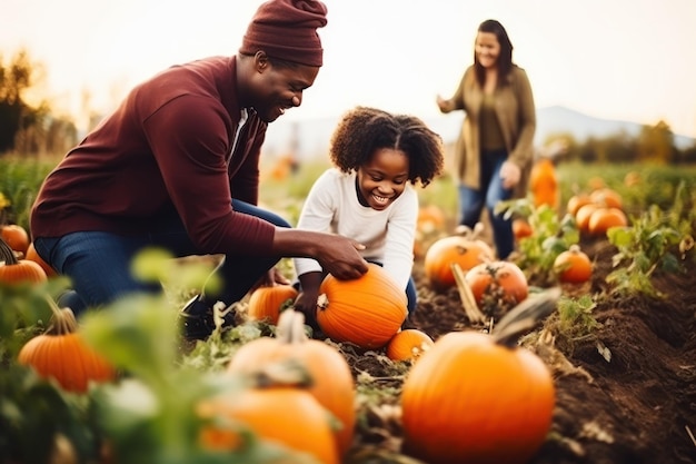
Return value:
[(319, 287), (317, 323), (335, 342), (381, 348), (401, 328), (408, 312), (404, 288), (381, 266), (369, 264), (362, 276), (339, 280), (332, 275)]

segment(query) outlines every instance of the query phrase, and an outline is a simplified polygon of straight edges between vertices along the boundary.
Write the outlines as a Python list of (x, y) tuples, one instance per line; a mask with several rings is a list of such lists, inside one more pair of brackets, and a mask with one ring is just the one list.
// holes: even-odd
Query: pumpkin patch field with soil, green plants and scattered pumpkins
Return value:
[[(261, 201), (296, 219), (322, 168), (268, 179)], [(165, 295), (76, 320), (30, 234), (3, 239), (0, 464), (695, 463), (696, 170), (558, 174), (556, 205), (500, 205), (528, 226), (506, 261), (486, 217), (456, 227), (451, 180), (436, 180), (419, 191), (417, 310), (377, 266), (326, 280), (314, 329), (278, 286), (183, 340), (177, 309), (219, 257), (159, 250), (133, 268)], [(4, 213), (26, 228), (26, 208)]]

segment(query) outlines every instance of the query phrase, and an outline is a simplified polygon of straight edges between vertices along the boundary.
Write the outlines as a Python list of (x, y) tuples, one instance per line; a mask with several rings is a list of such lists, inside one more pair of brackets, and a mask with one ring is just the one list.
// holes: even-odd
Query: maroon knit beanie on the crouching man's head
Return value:
[(269, 0), (256, 11), (239, 51), (307, 66), (321, 66), (324, 49), (317, 28), (326, 26), (326, 6), (318, 0)]

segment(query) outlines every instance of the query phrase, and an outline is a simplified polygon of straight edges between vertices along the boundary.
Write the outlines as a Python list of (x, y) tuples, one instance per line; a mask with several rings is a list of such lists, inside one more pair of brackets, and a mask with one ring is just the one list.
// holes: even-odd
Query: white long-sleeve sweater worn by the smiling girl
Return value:
[[(360, 205), (355, 172), (326, 170), (311, 187), (302, 206), (298, 229), (331, 233), (365, 245), (362, 256), (380, 263), (406, 288), (414, 266), (418, 195), (410, 184), (386, 209)], [(298, 276), (321, 270), (315, 259), (295, 258)]]

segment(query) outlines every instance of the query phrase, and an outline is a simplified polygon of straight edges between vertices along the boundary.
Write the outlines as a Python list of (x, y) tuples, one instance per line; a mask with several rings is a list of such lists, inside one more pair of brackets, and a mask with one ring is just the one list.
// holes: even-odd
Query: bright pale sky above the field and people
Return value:
[[(0, 52), (44, 65), (46, 92), (78, 112), (109, 111), (173, 63), (231, 55), (260, 0), (0, 0)], [(478, 24), (507, 28), (537, 107), (696, 137), (695, 0), (327, 0), (325, 66), (284, 119), (355, 105), (437, 115), (473, 59)]]

